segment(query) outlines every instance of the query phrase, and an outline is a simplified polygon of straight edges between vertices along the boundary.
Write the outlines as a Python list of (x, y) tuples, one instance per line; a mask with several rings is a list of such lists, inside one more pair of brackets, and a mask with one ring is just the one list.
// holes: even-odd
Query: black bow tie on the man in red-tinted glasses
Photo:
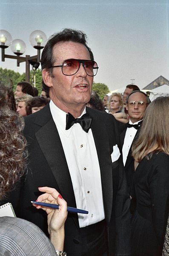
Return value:
[(84, 114), (81, 118), (74, 118), (73, 115), (68, 113), (66, 115), (66, 130), (70, 129), (72, 125), (79, 123), (85, 132), (89, 132), (92, 118)]

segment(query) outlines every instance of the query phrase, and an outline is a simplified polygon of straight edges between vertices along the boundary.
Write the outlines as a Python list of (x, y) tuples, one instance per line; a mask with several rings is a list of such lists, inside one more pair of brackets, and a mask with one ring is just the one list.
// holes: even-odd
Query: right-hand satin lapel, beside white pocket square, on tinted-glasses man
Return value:
[[(109, 223), (112, 213), (113, 184), (112, 184), (112, 162), (110, 156), (109, 139), (104, 129), (103, 122), (100, 122), (92, 112), (86, 108), (86, 112), (92, 117), (92, 134), (95, 140), (97, 156), (100, 165), (100, 174), (103, 191), (103, 203), (106, 221)], [(104, 131), (104, 132), (103, 132)], [(113, 145), (112, 145), (113, 146)]]

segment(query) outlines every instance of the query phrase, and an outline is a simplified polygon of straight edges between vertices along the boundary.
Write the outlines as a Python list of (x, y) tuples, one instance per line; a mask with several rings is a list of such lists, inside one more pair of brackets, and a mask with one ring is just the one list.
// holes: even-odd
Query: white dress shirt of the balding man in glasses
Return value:
[[(135, 122), (134, 124), (138, 124), (140, 121), (142, 121), (142, 120), (139, 120), (139, 121)], [(131, 120), (129, 120), (129, 124), (133, 124)], [(137, 129), (135, 129), (134, 127), (130, 127), (130, 128), (127, 127), (127, 129), (126, 129), (126, 134), (124, 137), (124, 143), (123, 143), (123, 148), (122, 148), (124, 166), (126, 164), (127, 156), (129, 154), (129, 150), (130, 150), (132, 142), (135, 138), (136, 132), (137, 132)]]

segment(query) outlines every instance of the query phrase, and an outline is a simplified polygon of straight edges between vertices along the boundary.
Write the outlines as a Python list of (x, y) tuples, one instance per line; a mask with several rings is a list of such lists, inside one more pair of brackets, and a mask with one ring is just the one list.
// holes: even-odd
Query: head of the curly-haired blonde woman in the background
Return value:
[(120, 113), (123, 106), (122, 98), (120, 93), (112, 93), (109, 96), (108, 109), (110, 114)]

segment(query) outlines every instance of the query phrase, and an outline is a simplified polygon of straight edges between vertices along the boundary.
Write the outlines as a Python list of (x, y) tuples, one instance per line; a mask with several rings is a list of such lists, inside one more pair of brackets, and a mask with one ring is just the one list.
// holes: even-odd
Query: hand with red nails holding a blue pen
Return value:
[(67, 218), (67, 203), (55, 188), (39, 187), (38, 189), (41, 192), (45, 192), (45, 194), (41, 194), (37, 198), (37, 201), (59, 205), (59, 209), (55, 210), (33, 204), (37, 209), (41, 208), (46, 211), (48, 215), (48, 232), (50, 234), (50, 239), (56, 250), (62, 251), (64, 244), (64, 224)]

